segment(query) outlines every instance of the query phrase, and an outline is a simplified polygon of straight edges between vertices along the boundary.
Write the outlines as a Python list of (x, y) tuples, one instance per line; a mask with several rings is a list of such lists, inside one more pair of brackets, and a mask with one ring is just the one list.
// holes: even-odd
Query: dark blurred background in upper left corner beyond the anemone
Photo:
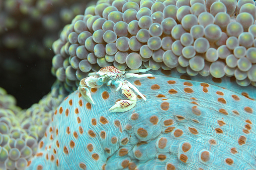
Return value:
[(51, 74), (52, 43), (96, 1), (24, 2), (0, 0), (0, 87), (25, 109), (49, 93), (56, 80)]

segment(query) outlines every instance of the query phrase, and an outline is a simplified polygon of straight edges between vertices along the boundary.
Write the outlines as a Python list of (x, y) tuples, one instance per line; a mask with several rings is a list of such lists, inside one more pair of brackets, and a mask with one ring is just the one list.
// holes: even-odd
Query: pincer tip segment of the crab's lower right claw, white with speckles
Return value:
[(135, 100), (120, 100), (109, 109), (109, 112), (125, 112), (133, 108), (136, 104)]

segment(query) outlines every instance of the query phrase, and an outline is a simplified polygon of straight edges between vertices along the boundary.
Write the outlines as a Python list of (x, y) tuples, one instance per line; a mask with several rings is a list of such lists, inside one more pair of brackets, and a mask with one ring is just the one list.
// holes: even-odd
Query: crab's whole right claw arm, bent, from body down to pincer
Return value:
[(120, 100), (120, 101), (116, 102), (116, 104), (109, 109), (109, 112), (125, 112), (125, 111), (128, 111), (128, 110), (132, 109), (135, 106), (136, 102), (137, 102), (136, 95), (133, 93), (133, 91), (129, 88), (129, 86), (127, 84), (128, 81), (123, 80), (122, 82), (123, 82), (122, 87), (121, 87), (122, 93), (129, 100)]

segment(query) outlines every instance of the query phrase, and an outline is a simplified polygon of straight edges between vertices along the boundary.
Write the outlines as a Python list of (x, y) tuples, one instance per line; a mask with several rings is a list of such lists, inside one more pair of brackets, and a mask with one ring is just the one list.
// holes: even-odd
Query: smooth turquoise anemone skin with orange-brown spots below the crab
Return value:
[(147, 101), (124, 113), (108, 112), (124, 98), (112, 87), (91, 90), (96, 105), (70, 94), (28, 169), (255, 168), (256, 94), (159, 72), (129, 78)]

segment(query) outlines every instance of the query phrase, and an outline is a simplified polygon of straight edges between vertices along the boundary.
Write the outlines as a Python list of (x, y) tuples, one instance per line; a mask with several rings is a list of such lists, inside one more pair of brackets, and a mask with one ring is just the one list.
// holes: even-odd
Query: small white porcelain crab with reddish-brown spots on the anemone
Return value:
[(78, 89), (84, 99), (95, 104), (88, 87), (100, 88), (103, 84), (106, 84), (107, 86), (115, 85), (117, 87), (116, 91), (121, 88), (122, 93), (129, 100), (120, 100), (116, 102), (116, 104), (109, 109), (109, 112), (125, 112), (133, 108), (137, 102), (136, 95), (130, 88), (136, 91), (138, 95), (146, 101), (146, 98), (139, 92), (139, 90), (125, 79), (129, 77), (152, 77), (152, 74), (134, 74), (139, 72), (143, 73), (148, 70), (150, 70), (150, 68), (121, 71), (114, 66), (103, 67), (98, 72), (89, 73), (89, 77), (81, 79)]

